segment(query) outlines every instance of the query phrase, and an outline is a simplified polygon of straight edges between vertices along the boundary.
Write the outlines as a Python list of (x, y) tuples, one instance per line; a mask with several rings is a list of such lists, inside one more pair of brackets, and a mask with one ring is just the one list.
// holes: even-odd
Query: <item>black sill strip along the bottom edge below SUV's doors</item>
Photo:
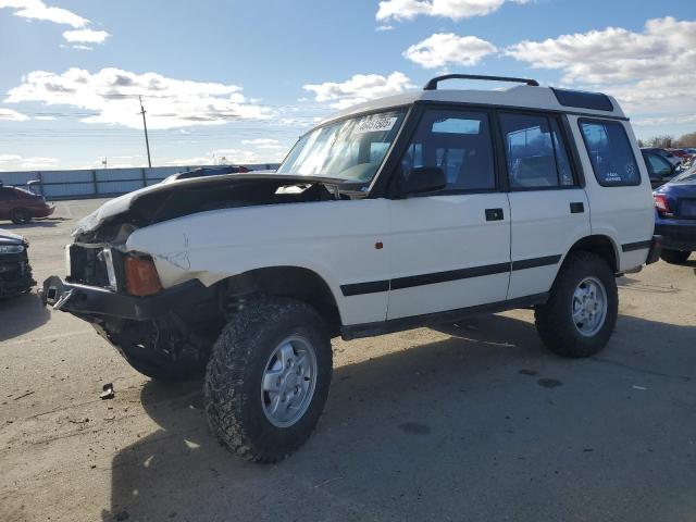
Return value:
[(451, 323), (473, 313), (493, 313), (513, 310), (515, 308), (534, 307), (536, 304), (544, 304), (547, 300), (548, 293), (535, 294), (533, 296), (518, 297), (515, 299), (496, 301), (487, 304), (476, 304), (457, 310), (446, 310), (444, 312), (411, 315), (409, 318), (390, 319), (388, 321), (377, 321), (374, 323), (349, 324), (341, 326), (340, 333), (341, 337), (346, 340), (372, 337), (374, 335), (390, 334), (405, 330), (420, 328), (422, 326)]

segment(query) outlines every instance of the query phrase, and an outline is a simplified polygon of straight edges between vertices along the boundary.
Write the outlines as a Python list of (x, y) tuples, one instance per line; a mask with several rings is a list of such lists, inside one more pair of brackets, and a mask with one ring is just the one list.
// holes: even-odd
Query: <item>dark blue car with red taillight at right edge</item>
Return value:
[(696, 167), (652, 192), (655, 233), (662, 236), (661, 258), (683, 263), (696, 250)]

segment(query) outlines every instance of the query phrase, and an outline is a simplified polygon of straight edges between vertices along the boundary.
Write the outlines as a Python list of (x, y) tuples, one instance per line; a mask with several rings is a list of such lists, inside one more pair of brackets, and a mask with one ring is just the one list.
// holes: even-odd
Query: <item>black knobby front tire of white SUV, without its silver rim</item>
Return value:
[[(261, 380), (269, 358), (288, 335), (307, 338), (316, 356), (311, 402), (295, 424), (277, 427), (263, 410)], [(225, 326), (213, 346), (204, 382), (208, 423), (238, 457), (276, 462), (309, 438), (322, 414), (333, 355), (326, 326), (309, 304), (288, 298), (249, 302)]]

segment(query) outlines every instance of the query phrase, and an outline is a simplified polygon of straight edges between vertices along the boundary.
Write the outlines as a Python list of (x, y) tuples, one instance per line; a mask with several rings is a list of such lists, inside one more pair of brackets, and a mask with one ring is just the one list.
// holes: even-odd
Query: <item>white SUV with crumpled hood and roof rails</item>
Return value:
[(543, 343), (600, 350), (614, 277), (657, 259), (650, 182), (601, 94), (438, 90), (345, 110), (276, 173), (156, 185), (85, 217), (54, 309), (153, 378), (206, 371), (213, 432), (276, 461), (315, 426), (330, 339), (534, 307)]

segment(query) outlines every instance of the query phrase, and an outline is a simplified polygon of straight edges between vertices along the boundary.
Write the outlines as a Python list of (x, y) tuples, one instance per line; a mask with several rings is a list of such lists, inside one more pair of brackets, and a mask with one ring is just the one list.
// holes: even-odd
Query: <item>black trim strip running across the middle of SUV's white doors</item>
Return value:
[[(649, 243), (649, 241), (648, 241)], [(522, 259), (512, 263), (486, 264), (483, 266), (471, 266), (468, 269), (449, 270), (447, 272), (434, 272), (431, 274), (409, 275), (395, 279), (370, 281), (368, 283), (352, 283), (340, 285), (340, 291), (345, 297), (362, 296), (364, 294), (377, 294), (381, 291), (402, 290), (415, 286), (434, 285), (447, 283), (449, 281), (469, 279), (471, 277), (482, 277), (484, 275), (505, 274), (510, 270), (535, 269), (556, 264), (561, 256), (546, 256), (544, 258)]]

